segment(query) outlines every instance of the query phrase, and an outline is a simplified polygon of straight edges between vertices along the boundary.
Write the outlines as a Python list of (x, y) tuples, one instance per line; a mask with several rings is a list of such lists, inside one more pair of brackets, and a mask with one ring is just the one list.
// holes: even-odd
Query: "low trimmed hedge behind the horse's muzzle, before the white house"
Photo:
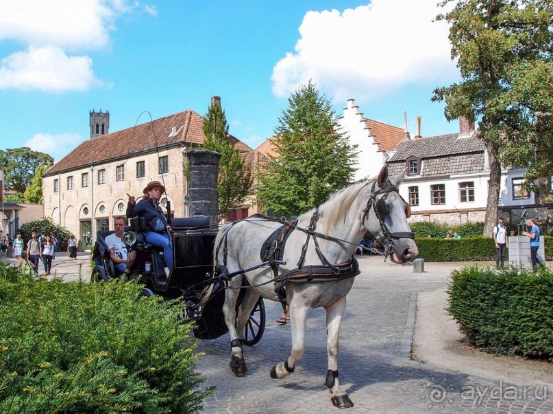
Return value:
[(462, 239), (415, 238), (419, 257), (425, 261), (485, 261), (495, 259), (495, 244), (491, 237)]

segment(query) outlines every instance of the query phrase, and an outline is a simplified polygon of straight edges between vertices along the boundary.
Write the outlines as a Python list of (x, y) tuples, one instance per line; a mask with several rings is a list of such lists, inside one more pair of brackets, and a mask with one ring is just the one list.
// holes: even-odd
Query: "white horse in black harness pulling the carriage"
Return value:
[[(229, 287), (223, 313), (231, 339), (230, 366), (237, 376), (243, 376), (247, 370), (239, 338), (251, 309), (259, 296), (275, 301), (280, 296), (281, 302), (285, 296), (290, 306), (292, 351), (286, 361), (272, 368), (271, 377), (284, 378), (294, 372), (305, 350), (308, 312), (323, 307), (328, 353), (325, 384), (332, 393), (334, 406), (354, 405), (340, 388), (337, 361), (346, 295), (354, 283), (353, 276), (359, 273), (353, 254), (365, 232), (370, 231), (384, 246), (383, 254), (390, 255), (395, 263), (417, 256), (418, 249), (407, 222), (410, 209), (397, 192), (403, 175), (389, 180), (384, 166), (378, 179), (336, 192), (319, 209), (302, 214), (293, 224), (283, 225), (278, 220), (251, 216), (221, 227), (215, 240), (214, 261), (223, 285), (228, 283)], [(276, 241), (268, 241), (273, 233), (278, 234)], [(261, 252), (262, 246), (268, 246), (269, 242), (272, 250)], [(251, 288), (246, 289), (236, 318), (236, 300), (243, 277)], [(210, 294), (206, 294), (204, 303)]]

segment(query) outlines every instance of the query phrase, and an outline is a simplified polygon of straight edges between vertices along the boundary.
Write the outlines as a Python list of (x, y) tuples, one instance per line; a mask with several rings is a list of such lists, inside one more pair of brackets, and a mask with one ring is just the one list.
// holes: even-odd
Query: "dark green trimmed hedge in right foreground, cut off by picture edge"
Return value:
[(447, 311), (471, 344), (553, 362), (553, 274), (478, 266), (454, 270)]

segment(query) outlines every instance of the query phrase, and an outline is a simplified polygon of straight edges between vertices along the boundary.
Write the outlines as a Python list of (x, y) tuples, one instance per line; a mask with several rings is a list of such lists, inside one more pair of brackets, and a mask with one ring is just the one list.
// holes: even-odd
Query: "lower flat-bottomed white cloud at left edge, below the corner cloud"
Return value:
[(69, 57), (56, 47), (31, 47), (5, 57), (0, 66), (0, 88), (84, 91), (95, 82), (90, 57)]

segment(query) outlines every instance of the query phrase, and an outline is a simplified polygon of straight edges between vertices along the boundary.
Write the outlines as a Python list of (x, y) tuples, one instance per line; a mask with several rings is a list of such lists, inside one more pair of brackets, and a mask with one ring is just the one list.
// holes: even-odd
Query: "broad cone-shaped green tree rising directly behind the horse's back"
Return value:
[(311, 81), (288, 98), (272, 143), (277, 155), (262, 161), (259, 171), (258, 203), (265, 211), (300, 214), (352, 181), (357, 155), (330, 101)]

